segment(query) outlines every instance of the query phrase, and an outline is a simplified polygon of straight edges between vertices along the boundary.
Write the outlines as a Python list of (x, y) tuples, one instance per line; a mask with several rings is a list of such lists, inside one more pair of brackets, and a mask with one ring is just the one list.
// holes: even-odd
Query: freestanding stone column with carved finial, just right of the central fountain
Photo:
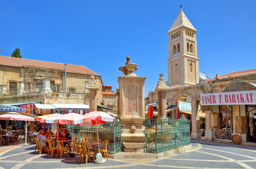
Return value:
[(160, 78), (157, 83), (157, 88), (155, 91), (158, 94), (158, 116), (157, 121), (161, 121), (164, 117), (166, 117), (166, 91), (169, 91), (169, 87), (166, 85), (165, 80), (163, 78), (163, 74), (159, 74)]

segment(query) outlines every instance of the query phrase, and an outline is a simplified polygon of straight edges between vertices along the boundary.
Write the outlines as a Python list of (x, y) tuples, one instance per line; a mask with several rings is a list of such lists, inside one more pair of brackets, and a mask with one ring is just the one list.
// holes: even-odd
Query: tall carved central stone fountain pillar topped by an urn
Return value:
[(145, 120), (144, 83), (146, 77), (138, 77), (134, 72), (137, 64), (130, 63), (130, 57), (119, 70), (125, 74), (118, 77), (119, 83), (119, 115), (123, 122), (121, 135), (124, 152), (143, 152), (145, 135), (142, 123)]

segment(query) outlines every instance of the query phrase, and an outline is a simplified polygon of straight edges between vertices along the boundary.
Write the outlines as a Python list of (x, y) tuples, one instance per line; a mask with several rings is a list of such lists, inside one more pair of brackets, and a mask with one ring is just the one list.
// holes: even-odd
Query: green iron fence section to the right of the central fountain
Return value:
[(148, 152), (160, 153), (190, 144), (190, 121), (184, 116), (179, 120), (166, 116), (155, 127), (155, 132), (144, 131)]

